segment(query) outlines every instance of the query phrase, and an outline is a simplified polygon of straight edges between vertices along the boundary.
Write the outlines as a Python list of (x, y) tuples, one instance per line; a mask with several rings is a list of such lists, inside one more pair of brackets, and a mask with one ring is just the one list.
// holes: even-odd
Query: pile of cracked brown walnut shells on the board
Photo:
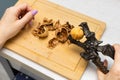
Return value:
[(59, 42), (65, 43), (68, 40), (72, 28), (74, 26), (69, 22), (61, 25), (59, 20), (54, 22), (52, 19), (44, 18), (42, 23), (38, 23), (32, 34), (38, 38), (46, 38), (49, 31), (55, 31), (55, 37), (48, 41), (48, 47), (54, 48)]

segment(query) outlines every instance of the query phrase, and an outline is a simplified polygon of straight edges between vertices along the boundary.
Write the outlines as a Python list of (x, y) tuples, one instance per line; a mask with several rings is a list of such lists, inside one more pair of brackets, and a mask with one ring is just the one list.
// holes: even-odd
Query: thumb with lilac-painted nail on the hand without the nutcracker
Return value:
[(24, 27), (24, 25), (26, 25), (30, 20), (32, 20), (33, 17), (37, 14), (37, 12), (37, 10), (32, 10), (26, 13), (24, 17), (19, 20), (19, 24), (21, 25), (21, 27)]

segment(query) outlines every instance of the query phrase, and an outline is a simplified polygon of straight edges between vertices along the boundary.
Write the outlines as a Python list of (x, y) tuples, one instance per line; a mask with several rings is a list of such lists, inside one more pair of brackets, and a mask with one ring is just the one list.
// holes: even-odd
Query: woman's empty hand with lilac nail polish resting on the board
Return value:
[(30, 22), (36, 13), (37, 11), (32, 10), (27, 4), (6, 9), (0, 20), (0, 47)]

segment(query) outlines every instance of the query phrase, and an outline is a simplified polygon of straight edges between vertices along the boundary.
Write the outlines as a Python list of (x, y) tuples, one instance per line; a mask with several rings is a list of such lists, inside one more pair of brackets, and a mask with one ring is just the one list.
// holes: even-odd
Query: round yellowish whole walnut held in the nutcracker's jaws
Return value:
[(84, 33), (83, 30), (80, 27), (75, 27), (70, 32), (71, 36), (75, 40), (80, 40), (83, 38)]

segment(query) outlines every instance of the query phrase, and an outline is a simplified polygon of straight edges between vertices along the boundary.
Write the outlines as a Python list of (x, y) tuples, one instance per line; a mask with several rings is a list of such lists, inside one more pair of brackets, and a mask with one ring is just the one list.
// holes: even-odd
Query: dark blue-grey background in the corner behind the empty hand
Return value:
[(14, 5), (18, 0), (0, 0), (0, 18), (4, 14), (6, 8)]

